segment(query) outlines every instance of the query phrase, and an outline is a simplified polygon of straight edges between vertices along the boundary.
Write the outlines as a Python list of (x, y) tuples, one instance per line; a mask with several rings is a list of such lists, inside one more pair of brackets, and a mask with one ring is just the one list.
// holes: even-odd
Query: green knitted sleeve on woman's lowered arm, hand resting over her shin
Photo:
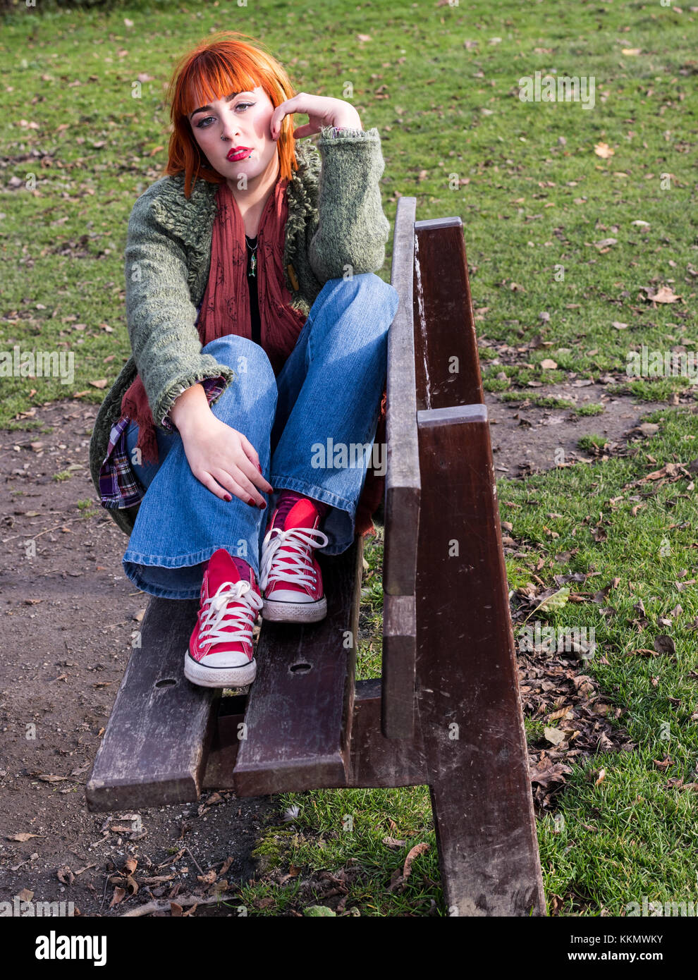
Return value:
[(128, 220), (125, 313), (133, 360), (157, 426), (172, 431), (163, 422), (185, 388), (217, 378), (218, 397), (234, 379), (232, 368), (201, 353), (184, 248), (157, 220), (148, 191)]

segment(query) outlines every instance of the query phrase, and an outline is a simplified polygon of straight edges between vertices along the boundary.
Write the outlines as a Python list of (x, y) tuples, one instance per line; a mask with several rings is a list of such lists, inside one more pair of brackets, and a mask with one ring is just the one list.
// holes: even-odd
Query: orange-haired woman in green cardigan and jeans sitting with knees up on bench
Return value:
[[(222, 32), (175, 71), (166, 175), (128, 221), (132, 357), (90, 444), (101, 503), (130, 534), (126, 575), (200, 600), (184, 673), (206, 687), (254, 680), (258, 613), (323, 618), (313, 552), (370, 526), (377, 500), (368, 524), (357, 505), (398, 306), (375, 275), (377, 130), (342, 100), (294, 95), (245, 36)], [(295, 132), (293, 113), (309, 117)], [(316, 132), (318, 149), (296, 145)], [(344, 451), (319, 466), (325, 446)]]

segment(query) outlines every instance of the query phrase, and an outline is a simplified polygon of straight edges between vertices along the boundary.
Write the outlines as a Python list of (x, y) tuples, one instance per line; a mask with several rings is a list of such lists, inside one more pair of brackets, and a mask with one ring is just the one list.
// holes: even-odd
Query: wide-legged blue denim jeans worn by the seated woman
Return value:
[[(179, 433), (156, 426), (159, 462), (133, 466), (146, 493), (123, 559), (139, 589), (198, 599), (205, 563), (219, 548), (244, 559), (259, 578), (260, 549), (283, 488), (329, 505), (323, 554), (339, 555), (352, 544), (397, 307), (397, 291), (374, 272), (329, 279), (275, 377), (262, 347), (245, 337), (228, 334), (202, 348), (236, 372), (211, 411), (247, 436), (274, 494), (260, 490), (267, 510), (234, 496), (222, 500), (191, 472)], [(131, 459), (137, 437), (131, 422)]]

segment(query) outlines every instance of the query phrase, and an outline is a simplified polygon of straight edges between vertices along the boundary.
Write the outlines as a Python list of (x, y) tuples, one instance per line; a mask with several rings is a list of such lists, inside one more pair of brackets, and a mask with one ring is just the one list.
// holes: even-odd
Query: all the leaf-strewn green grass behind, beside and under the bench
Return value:
[[(417, 198), (419, 219), (461, 217), (479, 335), (512, 347), (536, 341), (515, 365), (492, 364), (494, 352), (482, 350), (488, 390), (503, 392), (503, 400), (589, 415), (597, 407), (546, 396), (545, 385), (624, 372), (628, 353), (642, 344), (693, 349), (698, 100), (696, 14), (688, 7), (680, 13), (637, 3), (526, 7), (514, 0), (453, 7), (318, 0), (312, 10), (280, 0), (242, 8), (149, 0), (106, 12), (20, 6), (0, 38), (7, 165), (0, 351), (19, 344), (72, 353), (75, 378), (63, 384), (59, 377), (3, 377), (1, 425), (31, 430), (38, 423), (15, 417), (53, 399), (98, 405), (127, 359), (126, 221), (166, 161), (164, 86), (180, 55), (226, 27), (264, 38), (299, 91), (347, 98), (365, 127), (378, 127), (390, 221), (398, 195)], [(595, 108), (518, 98), (521, 76), (553, 70), (593, 76)], [(139, 75), (140, 98), (133, 98)], [(600, 143), (614, 154), (596, 155)], [(606, 238), (617, 241), (598, 244)], [(389, 260), (390, 244), (386, 279)], [(681, 299), (653, 307), (646, 287), (662, 285)], [(545, 358), (557, 368), (541, 368)], [(506, 379), (497, 378), (502, 372)], [(529, 382), (540, 394), (529, 394)], [(643, 378), (607, 391), (671, 403), (686, 384)], [(507, 390), (517, 385), (523, 392)], [(588, 670), (623, 706), (623, 724), (638, 743), (636, 752), (575, 766), (558, 804), (564, 824), (552, 817), (538, 822), (546, 891), (551, 902), (559, 897), (564, 914), (619, 914), (645, 894), (650, 901), (695, 897), (695, 803), (690, 792), (666, 788), (669, 775), (691, 781), (698, 758), (689, 629), (698, 610), (694, 588), (679, 593), (674, 585), (684, 570), (684, 580), (695, 572), (694, 491), (685, 479), (626, 489), (653, 467), (692, 459), (694, 433), (694, 417), (670, 412), (633, 457), (500, 484), (503, 515), (530, 547), (525, 560), (507, 560), (512, 588), (531, 580), (541, 556), (546, 565), (536, 574), (546, 584), (553, 573), (572, 570), (598, 572), (592, 581), (602, 584), (621, 579), (609, 614), (572, 603), (549, 613), (553, 622), (597, 628), (608, 663), (597, 659)], [(91, 504), (76, 507), (89, 515)], [(591, 535), (599, 515), (602, 541)], [(566, 552), (573, 553), (569, 561), (558, 563), (555, 556)], [(378, 541), (367, 552), (360, 677), (379, 671), (380, 561)], [(633, 611), (638, 598), (647, 611), (642, 628)], [(672, 615), (677, 604), (682, 612)], [(673, 622), (675, 656), (633, 655), (651, 649), (658, 631), (670, 631), (658, 625), (660, 617)], [(667, 723), (670, 737), (663, 739)], [(532, 741), (539, 725), (527, 719)], [(673, 760), (667, 773), (653, 762), (665, 756)], [(587, 775), (600, 766), (607, 775), (595, 786)], [(279, 814), (299, 807), (293, 833), (271, 827), (259, 847), (269, 849), (268, 865), (302, 870), (282, 886), (264, 878), (246, 886), (240, 902), (250, 913), (294, 907), (297, 877), (351, 862), (363, 874), (347, 907), (364, 915), (422, 915), (434, 901), (444, 913), (423, 787), (286, 794), (278, 805)], [(406, 844), (391, 850), (385, 836)], [(409, 847), (423, 841), (430, 850), (415, 861), (406, 891), (388, 892)]]

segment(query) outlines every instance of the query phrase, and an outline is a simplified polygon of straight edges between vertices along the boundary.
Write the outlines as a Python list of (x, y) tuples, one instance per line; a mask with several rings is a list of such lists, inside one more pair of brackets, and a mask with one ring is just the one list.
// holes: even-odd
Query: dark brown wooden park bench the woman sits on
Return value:
[(151, 598), (91, 810), (428, 785), (450, 915), (542, 915), (514, 636), (459, 218), (400, 198), (388, 334), (382, 677), (355, 680), (363, 541), (319, 556), (326, 618), (263, 622), (249, 694), (182, 674), (198, 600)]

